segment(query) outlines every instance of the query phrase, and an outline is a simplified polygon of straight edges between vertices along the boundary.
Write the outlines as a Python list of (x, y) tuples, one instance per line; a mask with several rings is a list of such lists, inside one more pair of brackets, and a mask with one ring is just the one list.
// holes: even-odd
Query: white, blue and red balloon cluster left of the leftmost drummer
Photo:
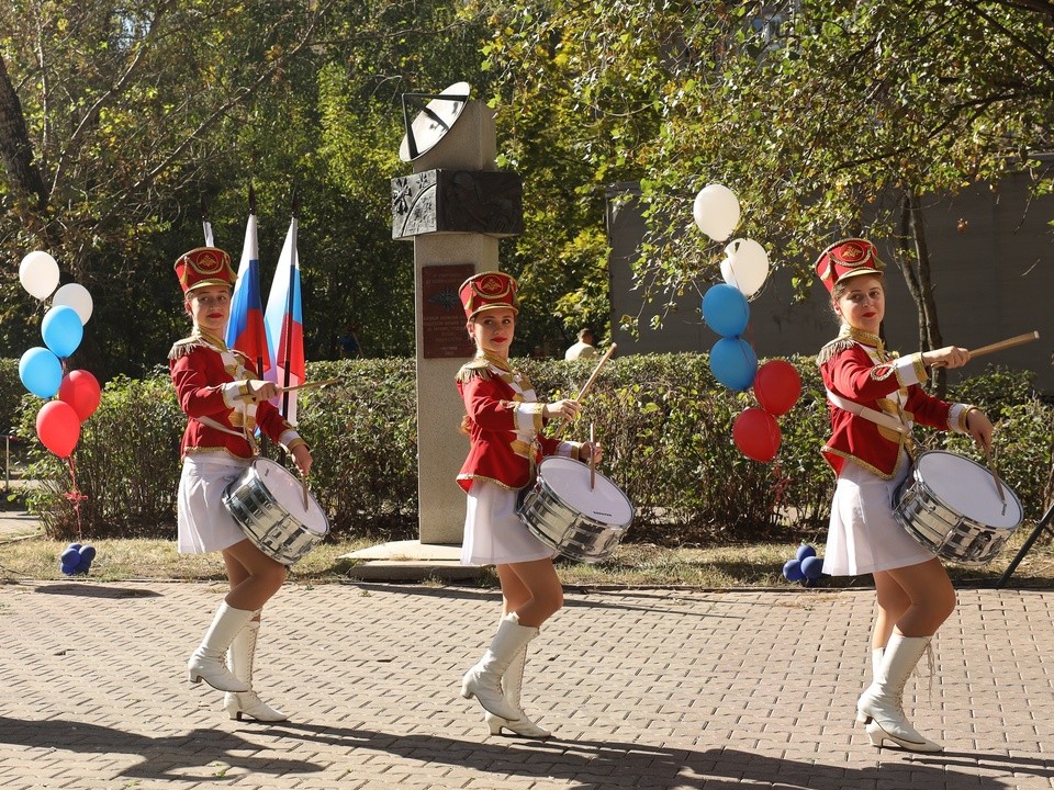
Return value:
[[(83, 370), (66, 371), (66, 359), (80, 346), (85, 324), (91, 317), (88, 289), (77, 283), (58, 286), (58, 264), (47, 252), (36, 250), (19, 266), (22, 286), (52, 306), (41, 321), (44, 346), (34, 346), (19, 360), (19, 379), (37, 397), (47, 400), (36, 415), (36, 435), (48, 450), (65, 459), (80, 440), (80, 426), (99, 406), (99, 382)], [(58, 399), (51, 398), (58, 395)]]

